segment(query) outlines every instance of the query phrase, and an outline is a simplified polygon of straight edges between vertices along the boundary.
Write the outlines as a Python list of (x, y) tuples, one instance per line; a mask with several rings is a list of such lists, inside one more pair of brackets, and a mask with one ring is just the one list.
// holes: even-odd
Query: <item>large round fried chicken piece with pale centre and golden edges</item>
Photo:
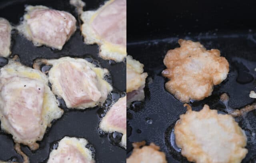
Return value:
[(188, 107), (174, 127), (181, 154), (195, 163), (240, 163), (248, 153), (247, 137), (234, 118), (208, 105), (199, 112)]

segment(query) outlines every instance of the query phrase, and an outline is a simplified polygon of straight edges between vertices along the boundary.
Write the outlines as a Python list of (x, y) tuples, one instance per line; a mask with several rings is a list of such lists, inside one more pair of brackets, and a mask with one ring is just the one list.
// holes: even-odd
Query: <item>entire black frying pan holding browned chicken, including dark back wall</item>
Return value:
[[(243, 1), (151, 1), (127, 2), (128, 55), (144, 64), (145, 100), (134, 102), (127, 110), (127, 157), (132, 142), (146, 140), (159, 145), (168, 163), (188, 163), (171, 143), (171, 132), (186, 108), (167, 92), (162, 77), (164, 56), (169, 49), (179, 47), (178, 39), (200, 41), (206, 49), (219, 49), (230, 64), (225, 81), (214, 86), (212, 95), (202, 101), (191, 101), (193, 110), (204, 104), (225, 114), (220, 95), (230, 97), (229, 107), (242, 108), (256, 102), (249, 97), (256, 82), (255, 2)], [(256, 112), (235, 118), (246, 131), (248, 154), (243, 163), (256, 162)], [(173, 139), (172, 139), (173, 142)]]

